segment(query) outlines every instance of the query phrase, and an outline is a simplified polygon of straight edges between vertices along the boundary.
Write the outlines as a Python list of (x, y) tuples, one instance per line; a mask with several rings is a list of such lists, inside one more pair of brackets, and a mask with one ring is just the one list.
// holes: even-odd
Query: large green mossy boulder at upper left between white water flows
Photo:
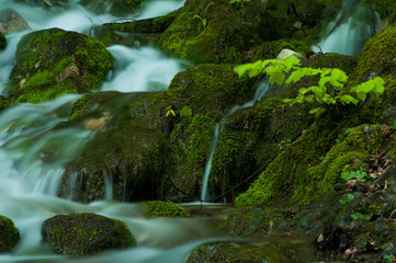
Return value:
[(112, 58), (101, 42), (76, 32), (30, 33), (18, 45), (8, 94), (13, 102), (38, 103), (95, 90), (112, 68)]

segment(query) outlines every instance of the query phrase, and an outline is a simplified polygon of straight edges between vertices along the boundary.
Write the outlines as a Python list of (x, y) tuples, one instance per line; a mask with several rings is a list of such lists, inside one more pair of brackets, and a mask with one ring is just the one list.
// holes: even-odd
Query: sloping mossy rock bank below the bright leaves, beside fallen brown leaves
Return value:
[(274, 159), (249, 190), (236, 198), (236, 204), (309, 202), (340, 182), (346, 165), (353, 169), (363, 165), (389, 140), (386, 129), (375, 125), (353, 129), (330, 149), (336, 139), (329, 140), (332, 136), (328, 130), (312, 127)]

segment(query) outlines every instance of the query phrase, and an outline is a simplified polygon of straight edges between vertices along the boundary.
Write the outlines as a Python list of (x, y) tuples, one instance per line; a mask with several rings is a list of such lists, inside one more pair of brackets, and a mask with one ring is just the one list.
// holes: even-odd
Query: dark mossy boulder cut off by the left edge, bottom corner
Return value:
[(0, 253), (10, 253), (20, 240), (20, 232), (10, 218), (0, 216)]

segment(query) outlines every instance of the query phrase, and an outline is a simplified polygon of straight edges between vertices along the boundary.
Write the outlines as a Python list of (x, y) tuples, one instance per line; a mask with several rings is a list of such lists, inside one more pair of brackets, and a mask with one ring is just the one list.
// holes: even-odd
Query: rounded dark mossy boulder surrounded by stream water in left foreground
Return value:
[(67, 255), (97, 254), (136, 243), (124, 222), (91, 213), (52, 217), (44, 221), (42, 237), (54, 252)]

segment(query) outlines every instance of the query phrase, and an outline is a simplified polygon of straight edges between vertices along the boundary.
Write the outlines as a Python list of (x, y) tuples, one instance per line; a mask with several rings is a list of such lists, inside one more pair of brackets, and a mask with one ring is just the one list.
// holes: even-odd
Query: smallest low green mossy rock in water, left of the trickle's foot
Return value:
[(149, 201), (143, 204), (147, 217), (190, 217), (179, 205), (170, 202)]

